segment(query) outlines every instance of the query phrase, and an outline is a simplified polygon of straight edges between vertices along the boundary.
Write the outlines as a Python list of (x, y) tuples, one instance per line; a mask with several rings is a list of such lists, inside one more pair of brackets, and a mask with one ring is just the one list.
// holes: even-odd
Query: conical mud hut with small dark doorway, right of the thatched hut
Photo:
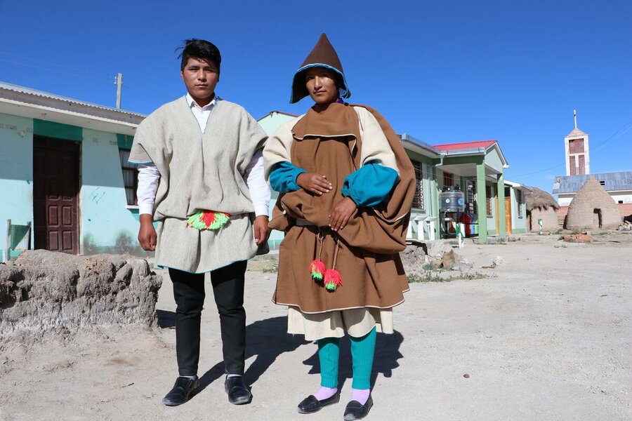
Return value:
[(600, 183), (591, 177), (575, 194), (566, 215), (566, 229), (612, 229), (621, 225), (621, 213)]

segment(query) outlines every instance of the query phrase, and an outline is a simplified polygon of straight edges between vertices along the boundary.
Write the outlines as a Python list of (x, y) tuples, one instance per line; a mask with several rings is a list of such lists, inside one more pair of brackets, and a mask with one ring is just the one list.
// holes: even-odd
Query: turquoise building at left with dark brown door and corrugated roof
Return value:
[(142, 253), (126, 153), (143, 118), (0, 83), (2, 260), (25, 248)]

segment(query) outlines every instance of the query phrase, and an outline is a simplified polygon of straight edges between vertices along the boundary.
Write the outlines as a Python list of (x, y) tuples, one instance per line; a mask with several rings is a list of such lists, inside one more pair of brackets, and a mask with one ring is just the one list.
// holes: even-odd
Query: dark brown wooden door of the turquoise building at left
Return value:
[(35, 248), (79, 253), (79, 143), (33, 139)]

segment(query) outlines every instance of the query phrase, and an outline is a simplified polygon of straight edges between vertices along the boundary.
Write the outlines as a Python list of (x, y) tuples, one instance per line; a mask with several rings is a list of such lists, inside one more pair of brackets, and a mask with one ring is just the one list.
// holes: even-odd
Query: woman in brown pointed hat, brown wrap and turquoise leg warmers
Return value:
[(313, 413), (340, 399), (340, 338), (350, 335), (351, 399), (345, 420), (373, 405), (376, 331), (393, 333), (392, 309), (408, 283), (398, 252), (414, 194), (414, 170), (388, 122), (343, 102), (350, 91), (322, 34), (294, 75), (291, 103), (315, 105), (266, 143), (265, 174), (279, 195), (270, 227), (286, 232), (272, 300), (287, 305), (288, 332), (317, 340), (321, 387), (298, 405)]

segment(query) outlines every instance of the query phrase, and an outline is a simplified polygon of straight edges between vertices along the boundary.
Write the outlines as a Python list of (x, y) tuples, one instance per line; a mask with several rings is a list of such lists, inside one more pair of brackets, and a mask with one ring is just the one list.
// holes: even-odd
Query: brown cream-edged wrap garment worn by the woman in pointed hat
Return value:
[[(371, 112), (386, 135), (395, 154), (400, 180), (383, 203), (373, 208), (358, 208), (345, 228), (337, 234), (332, 232), (327, 228), (329, 213), (343, 199), (341, 188), (345, 177), (362, 166), (363, 143), (368, 148), (371, 139), (360, 137), (358, 114), (348, 104), (333, 103), (322, 112), (310, 109), (296, 123), (291, 130), (291, 163), (308, 172), (326, 175), (333, 189), (322, 196), (303, 189), (279, 195), (270, 222), (272, 229), (286, 232), (279, 250), (277, 288), (272, 298), (279, 305), (298, 307), (303, 313), (358, 307), (387, 309), (400, 304), (403, 292), (409, 289), (398, 252), (405, 248), (415, 189), (414, 169), (388, 122), (374, 109), (360, 107)], [(269, 142), (274, 141), (273, 136)], [(314, 225), (296, 225), (297, 218)], [(324, 234), (322, 255), (319, 227)], [(309, 265), (320, 257), (330, 269), (338, 239), (336, 269), (343, 284), (331, 292), (311, 278)]]

